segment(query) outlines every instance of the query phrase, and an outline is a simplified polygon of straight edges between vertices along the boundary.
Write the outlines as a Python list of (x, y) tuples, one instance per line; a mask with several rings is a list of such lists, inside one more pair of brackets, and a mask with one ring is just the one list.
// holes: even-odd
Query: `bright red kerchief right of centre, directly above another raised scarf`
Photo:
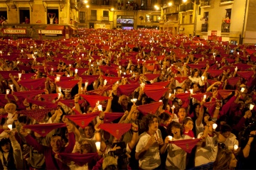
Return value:
[(168, 91), (168, 88), (162, 86), (154, 86), (146, 84), (144, 87), (144, 93), (146, 96), (152, 98), (154, 101), (159, 101), (159, 99)]

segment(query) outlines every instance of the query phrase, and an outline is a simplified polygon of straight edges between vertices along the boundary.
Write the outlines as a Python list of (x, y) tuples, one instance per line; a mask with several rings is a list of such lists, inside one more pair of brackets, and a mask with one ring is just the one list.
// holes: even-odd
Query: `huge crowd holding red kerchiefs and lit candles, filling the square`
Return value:
[(2, 39), (0, 169), (255, 169), (255, 54), (146, 29)]

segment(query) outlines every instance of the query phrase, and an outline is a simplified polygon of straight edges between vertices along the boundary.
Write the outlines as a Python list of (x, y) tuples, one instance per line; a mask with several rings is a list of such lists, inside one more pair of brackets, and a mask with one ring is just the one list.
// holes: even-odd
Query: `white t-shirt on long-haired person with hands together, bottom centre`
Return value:
[[(157, 136), (156, 136), (157, 134)], [(156, 138), (161, 137), (161, 131), (156, 130), (156, 134), (154, 135)], [(151, 136), (144, 132), (139, 136), (139, 142), (137, 144), (135, 152), (139, 153), (147, 144)], [(144, 156), (139, 159), (139, 167), (141, 169), (155, 169), (161, 164), (160, 152), (159, 152), (159, 144), (154, 142), (154, 145), (149, 147)]]

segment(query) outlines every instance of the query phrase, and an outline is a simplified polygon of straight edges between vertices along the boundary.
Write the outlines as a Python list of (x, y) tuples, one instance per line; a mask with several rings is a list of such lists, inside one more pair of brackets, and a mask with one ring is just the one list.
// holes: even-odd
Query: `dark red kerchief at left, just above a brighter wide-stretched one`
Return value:
[(18, 114), (28, 115), (29, 117), (34, 118), (36, 121), (41, 122), (44, 116), (52, 110), (53, 110), (52, 108), (37, 109), (37, 110), (23, 110), (23, 111), (18, 111)]

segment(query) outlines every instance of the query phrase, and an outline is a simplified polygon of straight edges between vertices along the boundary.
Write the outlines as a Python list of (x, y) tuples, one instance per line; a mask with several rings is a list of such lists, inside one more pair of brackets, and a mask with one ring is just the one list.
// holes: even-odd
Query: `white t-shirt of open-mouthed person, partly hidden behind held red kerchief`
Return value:
[[(178, 140), (191, 139), (188, 135), (182, 135)], [(173, 140), (176, 140), (173, 138)], [(166, 169), (186, 169), (186, 151), (175, 144), (169, 144), (167, 147)]]

